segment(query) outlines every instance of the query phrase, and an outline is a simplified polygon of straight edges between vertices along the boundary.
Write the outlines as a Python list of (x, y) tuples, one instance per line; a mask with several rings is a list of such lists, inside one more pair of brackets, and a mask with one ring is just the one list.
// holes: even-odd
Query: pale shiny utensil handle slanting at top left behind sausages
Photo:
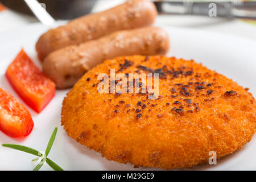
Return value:
[(24, 0), (31, 11), (35, 14), (36, 18), (40, 20), (43, 24), (50, 25), (55, 23), (55, 19), (47, 13), (42, 5), (36, 0)]

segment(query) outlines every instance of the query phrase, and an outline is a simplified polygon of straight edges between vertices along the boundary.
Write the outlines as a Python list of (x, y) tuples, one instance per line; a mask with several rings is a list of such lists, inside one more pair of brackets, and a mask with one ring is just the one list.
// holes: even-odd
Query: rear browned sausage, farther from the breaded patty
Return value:
[(150, 26), (157, 15), (154, 3), (129, 0), (112, 9), (82, 16), (43, 34), (36, 43), (40, 60), (57, 49), (100, 38), (118, 30)]

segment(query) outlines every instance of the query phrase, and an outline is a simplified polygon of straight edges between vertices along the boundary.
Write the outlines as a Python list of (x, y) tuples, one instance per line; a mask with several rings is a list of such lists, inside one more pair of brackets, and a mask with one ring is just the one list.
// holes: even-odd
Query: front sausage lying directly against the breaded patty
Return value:
[(167, 32), (161, 28), (143, 27), (122, 30), (100, 39), (61, 48), (43, 61), (43, 72), (56, 88), (73, 86), (86, 71), (106, 59), (127, 55), (164, 55), (169, 49)]

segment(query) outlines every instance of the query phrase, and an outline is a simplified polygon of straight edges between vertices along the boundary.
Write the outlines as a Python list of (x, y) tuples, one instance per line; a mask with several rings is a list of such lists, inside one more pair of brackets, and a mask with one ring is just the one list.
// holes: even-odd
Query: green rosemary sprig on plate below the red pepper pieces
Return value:
[(59, 167), (55, 162), (53, 162), (51, 159), (47, 158), (47, 156), (49, 154), (49, 151), (52, 148), (52, 144), (53, 144), (53, 142), (55, 140), (56, 134), (57, 134), (57, 127), (53, 130), (51, 138), (49, 139), (49, 142), (48, 142), (47, 147), (46, 147), (46, 153), (44, 155), (41, 152), (39, 152), (39, 151), (37, 151), (37, 150), (35, 150), (33, 148), (26, 147), (26, 146), (21, 146), (19, 144), (2, 144), (2, 146), (3, 147), (13, 148), (15, 150), (20, 150), (20, 151), (23, 151), (23, 152), (27, 152), (28, 154), (33, 154), (33, 155), (39, 156), (39, 158), (32, 159), (32, 161), (36, 161), (36, 160), (41, 159), (39, 164), (33, 169), (33, 171), (38, 171), (43, 166), (43, 164), (45, 162), (53, 170), (55, 170), (55, 171), (63, 171), (63, 169), (61, 167)]

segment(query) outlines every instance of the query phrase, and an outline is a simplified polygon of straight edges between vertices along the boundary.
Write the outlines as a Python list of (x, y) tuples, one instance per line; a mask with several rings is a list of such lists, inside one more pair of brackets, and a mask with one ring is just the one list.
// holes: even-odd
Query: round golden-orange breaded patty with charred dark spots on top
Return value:
[[(127, 64), (129, 63), (129, 64)], [(159, 73), (159, 98), (98, 93), (97, 75)], [(185, 168), (231, 154), (256, 131), (256, 103), (236, 82), (175, 57), (125, 56), (88, 71), (63, 101), (67, 134), (102, 156), (136, 167)]]

